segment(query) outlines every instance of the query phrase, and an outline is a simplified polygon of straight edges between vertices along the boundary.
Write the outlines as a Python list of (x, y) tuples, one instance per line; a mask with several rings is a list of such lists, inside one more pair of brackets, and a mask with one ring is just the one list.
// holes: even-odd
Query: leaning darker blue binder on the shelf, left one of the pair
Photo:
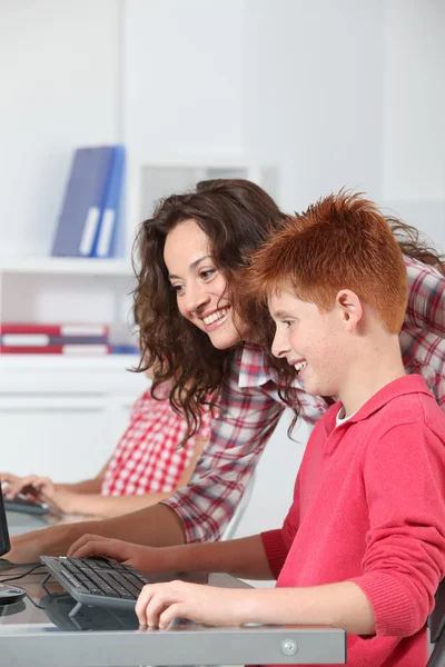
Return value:
[(112, 157), (111, 146), (76, 150), (52, 246), (53, 256), (91, 256)]

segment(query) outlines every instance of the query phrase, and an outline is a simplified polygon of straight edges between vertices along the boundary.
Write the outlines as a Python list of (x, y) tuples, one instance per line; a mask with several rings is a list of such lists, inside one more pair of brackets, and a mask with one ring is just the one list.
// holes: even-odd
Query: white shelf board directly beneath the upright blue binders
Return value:
[(134, 276), (130, 260), (82, 257), (0, 258), (2, 273)]

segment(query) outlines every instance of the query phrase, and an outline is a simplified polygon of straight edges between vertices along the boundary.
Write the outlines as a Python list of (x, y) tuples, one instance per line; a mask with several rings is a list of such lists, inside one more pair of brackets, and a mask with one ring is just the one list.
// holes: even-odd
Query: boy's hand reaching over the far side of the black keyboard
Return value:
[(162, 571), (164, 559), (160, 557), (161, 549), (155, 547), (142, 547), (132, 545), (120, 539), (101, 537), (99, 535), (82, 535), (68, 550), (72, 558), (88, 558), (105, 556), (116, 558), (119, 563), (130, 565), (142, 573)]

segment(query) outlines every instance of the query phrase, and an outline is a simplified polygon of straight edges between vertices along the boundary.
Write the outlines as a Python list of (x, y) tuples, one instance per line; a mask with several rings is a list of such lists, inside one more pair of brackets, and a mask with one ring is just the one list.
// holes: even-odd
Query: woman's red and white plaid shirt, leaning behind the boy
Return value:
[[(445, 411), (445, 278), (405, 258), (409, 296), (400, 332), (407, 372), (418, 372)], [(300, 416), (314, 424), (327, 409), (296, 381)], [(225, 379), (219, 417), (189, 485), (165, 504), (181, 518), (187, 541), (218, 539), (227, 526), (285, 405), (274, 371), (255, 346), (241, 346)]]

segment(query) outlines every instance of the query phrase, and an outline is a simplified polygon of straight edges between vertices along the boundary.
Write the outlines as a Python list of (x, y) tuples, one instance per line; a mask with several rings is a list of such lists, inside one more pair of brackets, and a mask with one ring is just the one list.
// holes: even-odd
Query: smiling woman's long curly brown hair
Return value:
[(172, 378), (170, 404), (187, 419), (186, 437), (200, 427), (200, 406), (211, 402), (209, 395), (220, 389), (234, 349), (216, 349), (204, 331), (180, 315), (164, 261), (167, 235), (180, 222), (195, 220), (210, 239), (216, 268), (233, 287), (250, 251), (284, 218), (259, 186), (243, 179), (215, 179), (162, 199), (140, 226), (134, 246), (135, 319), (141, 350), (136, 370), (154, 369), (155, 398), (156, 388)]

